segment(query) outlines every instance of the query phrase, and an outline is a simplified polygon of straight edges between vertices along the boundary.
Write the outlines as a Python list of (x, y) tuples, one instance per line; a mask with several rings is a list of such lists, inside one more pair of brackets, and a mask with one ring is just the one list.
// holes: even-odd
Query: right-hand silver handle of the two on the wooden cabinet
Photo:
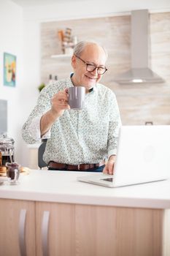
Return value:
[(42, 255), (48, 255), (48, 225), (49, 225), (50, 211), (44, 211), (42, 218)]

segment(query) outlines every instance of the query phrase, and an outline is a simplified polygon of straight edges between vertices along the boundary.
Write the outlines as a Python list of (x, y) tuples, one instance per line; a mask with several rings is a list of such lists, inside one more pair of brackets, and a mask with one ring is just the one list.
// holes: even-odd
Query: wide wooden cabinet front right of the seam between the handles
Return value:
[(160, 256), (162, 217), (158, 209), (36, 202), (36, 255)]

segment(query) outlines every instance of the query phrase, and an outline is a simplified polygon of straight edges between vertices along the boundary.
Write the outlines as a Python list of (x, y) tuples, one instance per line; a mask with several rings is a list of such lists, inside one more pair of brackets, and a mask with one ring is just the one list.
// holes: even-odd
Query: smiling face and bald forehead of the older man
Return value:
[[(86, 45), (78, 57), (88, 64), (94, 64), (98, 67), (105, 67), (107, 61), (104, 49), (96, 44)], [(74, 83), (74, 86), (84, 86), (86, 91), (88, 91), (101, 80), (102, 75), (98, 75), (97, 69), (93, 72), (88, 72), (86, 70), (86, 64), (81, 59), (78, 59), (75, 55), (72, 56), (72, 67), (74, 69), (72, 82)]]

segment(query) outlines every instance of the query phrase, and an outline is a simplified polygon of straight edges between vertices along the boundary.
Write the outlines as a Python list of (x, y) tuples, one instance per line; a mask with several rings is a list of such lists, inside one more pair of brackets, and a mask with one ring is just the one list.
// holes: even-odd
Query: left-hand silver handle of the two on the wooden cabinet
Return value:
[(20, 210), (19, 246), (20, 246), (20, 255), (26, 256), (26, 209)]

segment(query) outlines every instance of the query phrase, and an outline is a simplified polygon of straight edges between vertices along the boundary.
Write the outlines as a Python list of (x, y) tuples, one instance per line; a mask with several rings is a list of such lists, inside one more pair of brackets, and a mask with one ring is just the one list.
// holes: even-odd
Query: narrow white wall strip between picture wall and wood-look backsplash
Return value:
[[(37, 87), (40, 84), (40, 42), (39, 42), (39, 22), (23, 19), (23, 67), (24, 67), (24, 86), (20, 90), (22, 94), (22, 126), (28, 115), (36, 104), (39, 96)], [(21, 129), (20, 131), (21, 132)], [(20, 146), (22, 148), (22, 159), (20, 163), (23, 166), (29, 166), (28, 146), (22, 139)]]

